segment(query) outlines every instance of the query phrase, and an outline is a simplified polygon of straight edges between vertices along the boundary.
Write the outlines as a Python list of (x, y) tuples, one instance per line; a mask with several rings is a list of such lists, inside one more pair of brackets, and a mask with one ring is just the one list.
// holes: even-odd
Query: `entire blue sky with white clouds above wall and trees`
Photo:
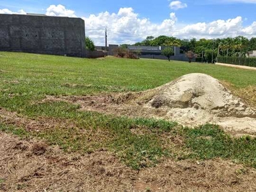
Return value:
[(256, 37), (256, 0), (0, 0), (0, 13), (81, 17), (86, 35), (104, 45), (133, 44), (147, 36)]

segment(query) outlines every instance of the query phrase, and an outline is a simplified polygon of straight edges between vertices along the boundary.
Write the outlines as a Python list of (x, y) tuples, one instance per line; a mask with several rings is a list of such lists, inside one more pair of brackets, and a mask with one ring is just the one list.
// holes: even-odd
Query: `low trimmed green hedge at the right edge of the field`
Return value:
[(256, 67), (256, 58), (218, 57), (219, 63)]

